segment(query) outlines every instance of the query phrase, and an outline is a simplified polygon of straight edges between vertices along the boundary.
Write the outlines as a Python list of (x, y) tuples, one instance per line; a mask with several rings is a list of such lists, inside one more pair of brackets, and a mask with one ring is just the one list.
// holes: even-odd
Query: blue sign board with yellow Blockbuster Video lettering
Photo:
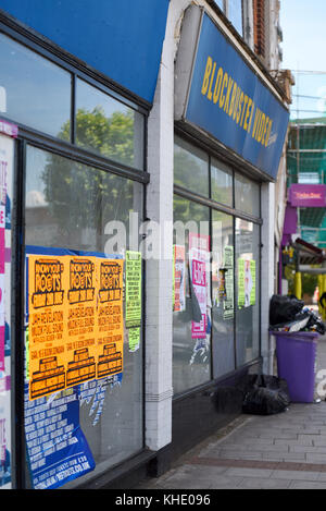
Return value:
[(198, 20), (186, 20), (181, 37), (189, 42), (181, 41), (179, 59), (192, 72), (187, 74), (186, 66), (177, 62), (177, 120), (199, 127), (276, 179), (288, 110), (203, 10), (193, 7), (191, 16)]

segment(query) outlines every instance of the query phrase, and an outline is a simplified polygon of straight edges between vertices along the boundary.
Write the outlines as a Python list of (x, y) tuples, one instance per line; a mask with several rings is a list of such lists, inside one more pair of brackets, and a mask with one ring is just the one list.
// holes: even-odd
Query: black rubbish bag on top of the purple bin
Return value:
[(274, 294), (269, 302), (269, 325), (281, 325), (293, 321), (304, 307), (304, 302), (297, 296)]

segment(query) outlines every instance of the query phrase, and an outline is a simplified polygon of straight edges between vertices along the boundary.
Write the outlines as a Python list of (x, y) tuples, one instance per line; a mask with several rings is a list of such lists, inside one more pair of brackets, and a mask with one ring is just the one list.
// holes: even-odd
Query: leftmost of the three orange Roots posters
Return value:
[(64, 257), (28, 258), (29, 398), (66, 387)]

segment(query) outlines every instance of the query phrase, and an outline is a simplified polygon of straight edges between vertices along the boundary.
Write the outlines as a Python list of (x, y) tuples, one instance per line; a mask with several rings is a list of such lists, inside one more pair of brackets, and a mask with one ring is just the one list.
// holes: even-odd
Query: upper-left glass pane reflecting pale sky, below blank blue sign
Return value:
[(70, 141), (71, 74), (3, 34), (0, 70), (0, 112)]

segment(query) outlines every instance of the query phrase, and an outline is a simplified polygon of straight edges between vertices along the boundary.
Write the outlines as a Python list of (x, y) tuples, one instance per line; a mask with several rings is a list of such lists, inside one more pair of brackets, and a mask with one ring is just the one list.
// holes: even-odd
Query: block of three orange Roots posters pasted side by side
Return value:
[(123, 370), (123, 260), (28, 257), (29, 398)]

